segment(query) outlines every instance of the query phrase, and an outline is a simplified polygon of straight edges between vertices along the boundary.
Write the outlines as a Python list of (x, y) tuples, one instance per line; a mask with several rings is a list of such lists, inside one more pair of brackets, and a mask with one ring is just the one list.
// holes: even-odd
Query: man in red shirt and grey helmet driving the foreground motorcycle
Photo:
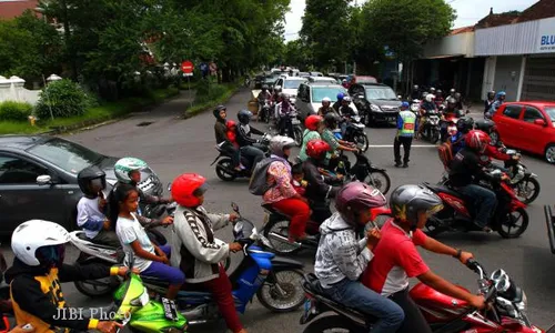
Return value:
[(374, 248), (374, 259), (364, 272), (362, 283), (403, 309), (405, 321), (397, 333), (432, 332), (420, 309), (408, 296), (408, 278), (417, 278), (443, 294), (466, 301), (478, 309), (484, 307), (484, 296), (471, 294), (436, 275), (416, 250), (416, 246), (422, 246), (438, 254), (452, 255), (463, 264), (473, 256), (472, 253), (427, 238), (422, 232), (427, 219), (443, 208), (442, 200), (424, 186), (403, 185), (391, 194), (390, 204), (394, 218), (382, 228), (382, 239)]

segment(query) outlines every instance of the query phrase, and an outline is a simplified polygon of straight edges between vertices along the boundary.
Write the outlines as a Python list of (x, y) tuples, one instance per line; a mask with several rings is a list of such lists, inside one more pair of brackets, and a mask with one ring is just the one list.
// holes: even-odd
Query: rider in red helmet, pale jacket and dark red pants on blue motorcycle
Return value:
[(231, 252), (241, 251), (239, 243), (225, 243), (214, 236), (214, 231), (238, 219), (235, 213), (211, 214), (204, 206), (208, 189), (205, 178), (183, 173), (172, 182), (172, 196), (179, 204), (172, 230), (171, 264), (185, 274), (185, 282), (201, 284), (214, 297), (220, 314), (233, 333), (246, 333), (235, 310), (232, 285), (220, 263)]

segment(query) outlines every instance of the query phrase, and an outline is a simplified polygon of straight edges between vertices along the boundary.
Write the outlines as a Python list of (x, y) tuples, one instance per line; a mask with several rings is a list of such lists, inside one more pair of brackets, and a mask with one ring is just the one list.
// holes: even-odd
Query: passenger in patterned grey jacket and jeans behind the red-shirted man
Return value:
[(360, 282), (373, 260), (373, 249), (380, 244), (380, 231), (371, 229), (365, 242), (357, 240), (360, 231), (371, 221), (371, 210), (386, 203), (379, 190), (365, 183), (343, 186), (335, 199), (337, 212), (320, 226), (314, 272), (329, 297), (376, 320), (370, 332), (393, 333), (403, 323), (403, 311)]

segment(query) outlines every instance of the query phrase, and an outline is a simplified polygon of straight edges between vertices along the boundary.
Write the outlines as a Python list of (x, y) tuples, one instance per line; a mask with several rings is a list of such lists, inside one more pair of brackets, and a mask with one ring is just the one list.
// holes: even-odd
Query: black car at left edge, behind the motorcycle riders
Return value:
[[(0, 234), (11, 234), (17, 225), (32, 219), (75, 229), (77, 202), (83, 195), (77, 183), (78, 172), (98, 165), (113, 185), (117, 161), (56, 137), (1, 135)], [(162, 194), (162, 183), (152, 170), (143, 171), (141, 180), (141, 190)]]

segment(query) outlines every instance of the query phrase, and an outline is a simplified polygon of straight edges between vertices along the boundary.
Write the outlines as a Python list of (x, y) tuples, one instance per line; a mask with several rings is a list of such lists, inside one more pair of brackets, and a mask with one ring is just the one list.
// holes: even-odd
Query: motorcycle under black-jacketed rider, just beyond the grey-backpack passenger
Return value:
[[(260, 140), (260, 143), (256, 144), (256, 148), (261, 149), (268, 154), (268, 147), (271, 139), (272, 137), (270, 134), (264, 134)], [(251, 161), (251, 159), (241, 155), (241, 164), (243, 164), (245, 169), (238, 171), (235, 170), (235, 168), (233, 168), (231, 155), (226, 151), (222, 150), (220, 145), (216, 145), (215, 149), (218, 150), (219, 154), (214, 159), (214, 161), (210, 163), (210, 165), (214, 165), (214, 163), (218, 162), (215, 164), (215, 174), (218, 175), (218, 178), (226, 182), (234, 181), (236, 178), (251, 178), (251, 172), (254, 169), (254, 165), (252, 165), (253, 161)]]

